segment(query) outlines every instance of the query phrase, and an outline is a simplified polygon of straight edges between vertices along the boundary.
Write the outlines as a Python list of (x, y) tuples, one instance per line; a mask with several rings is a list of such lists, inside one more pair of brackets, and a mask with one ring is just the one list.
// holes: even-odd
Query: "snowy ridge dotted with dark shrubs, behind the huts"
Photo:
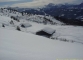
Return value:
[(17, 12), (14, 10), (8, 10), (8, 9), (0, 9), (0, 15), (5, 15), (5, 16), (9, 16), (9, 17), (14, 16), (18, 19), (24, 19), (27, 21), (43, 23), (43, 24), (52, 24), (52, 25), (64, 24), (64, 23), (56, 20), (52, 16), (26, 14), (26, 13), (20, 13), (20, 12)]

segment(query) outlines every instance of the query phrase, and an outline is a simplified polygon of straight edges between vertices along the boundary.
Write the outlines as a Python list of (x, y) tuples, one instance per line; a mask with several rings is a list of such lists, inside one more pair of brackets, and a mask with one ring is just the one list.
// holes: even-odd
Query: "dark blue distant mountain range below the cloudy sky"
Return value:
[(83, 24), (83, 19), (80, 17), (83, 16), (83, 3), (78, 5), (75, 4), (55, 5), (53, 3), (50, 3), (43, 8), (13, 8), (13, 9), (28, 14), (51, 15), (62, 22), (64, 22), (63, 20), (65, 20), (65, 23), (68, 24), (76, 25)]

